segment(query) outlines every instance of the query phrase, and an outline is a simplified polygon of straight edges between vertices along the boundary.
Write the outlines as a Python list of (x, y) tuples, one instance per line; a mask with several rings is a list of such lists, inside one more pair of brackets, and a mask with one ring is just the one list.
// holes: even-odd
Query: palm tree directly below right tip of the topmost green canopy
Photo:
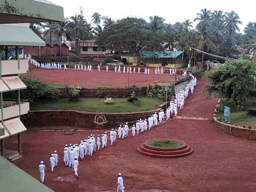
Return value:
[[(65, 40), (70, 38), (69, 30), (68, 30), (68, 25), (69, 25), (69, 19), (64, 18), (63, 22), (56, 22), (53, 24), (53, 38), (61, 38), (61, 45), (62, 45), (62, 38)], [(60, 45), (60, 55), (61, 55), (61, 45)]]

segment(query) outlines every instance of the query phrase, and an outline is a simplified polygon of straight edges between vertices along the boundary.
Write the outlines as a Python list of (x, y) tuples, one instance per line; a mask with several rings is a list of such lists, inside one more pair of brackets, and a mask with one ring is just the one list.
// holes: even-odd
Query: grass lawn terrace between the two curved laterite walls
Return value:
[(105, 98), (80, 98), (77, 102), (69, 102), (67, 98), (41, 100), (30, 103), (30, 111), (36, 110), (79, 110), (85, 112), (125, 113), (155, 110), (164, 103), (155, 97), (138, 97), (140, 105), (128, 102), (127, 98), (113, 98), (113, 104), (105, 104)]

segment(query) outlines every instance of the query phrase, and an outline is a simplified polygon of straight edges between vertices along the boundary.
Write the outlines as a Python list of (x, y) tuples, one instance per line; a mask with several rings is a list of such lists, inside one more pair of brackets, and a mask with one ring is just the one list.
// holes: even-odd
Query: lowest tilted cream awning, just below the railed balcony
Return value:
[(18, 117), (15, 119), (4, 121), (3, 126), (8, 134), (11, 136), (27, 130)]

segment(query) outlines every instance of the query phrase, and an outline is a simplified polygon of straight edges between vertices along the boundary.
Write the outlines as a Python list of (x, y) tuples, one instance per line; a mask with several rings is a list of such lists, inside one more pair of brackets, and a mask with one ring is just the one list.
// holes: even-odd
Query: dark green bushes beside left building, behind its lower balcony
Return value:
[[(29, 102), (33, 102), (36, 99), (58, 99), (61, 96), (59, 89), (50, 87), (47, 83), (39, 81), (41, 78), (30, 79), (26, 75), (20, 75), (20, 79), (27, 86), (26, 89), (20, 90), (21, 99), (29, 99)], [(3, 98), (17, 99), (17, 92), (5, 92), (3, 93)]]

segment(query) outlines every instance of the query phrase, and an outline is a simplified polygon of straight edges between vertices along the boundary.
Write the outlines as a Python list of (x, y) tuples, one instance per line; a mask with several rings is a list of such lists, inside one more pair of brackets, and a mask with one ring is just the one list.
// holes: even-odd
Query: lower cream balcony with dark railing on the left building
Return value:
[[(17, 99), (3, 99), (3, 119), (9, 119), (12, 117), (19, 116), (19, 105)], [(29, 101), (20, 100), (20, 115), (27, 114), (29, 111)], [(2, 120), (2, 115), (0, 111), (0, 120)]]

